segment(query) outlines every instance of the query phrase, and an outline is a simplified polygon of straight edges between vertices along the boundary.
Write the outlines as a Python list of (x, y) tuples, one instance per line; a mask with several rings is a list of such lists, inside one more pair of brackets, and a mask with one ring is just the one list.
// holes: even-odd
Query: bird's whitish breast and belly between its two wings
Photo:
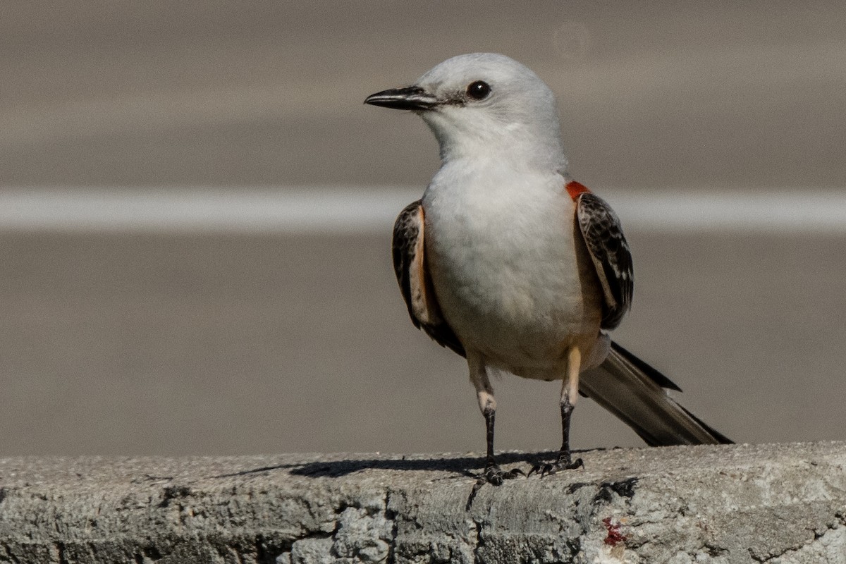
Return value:
[(466, 348), (519, 375), (547, 378), (567, 347), (599, 333), (602, 297), (564, 183), (443, 167), (423, 198), (445, 319)]

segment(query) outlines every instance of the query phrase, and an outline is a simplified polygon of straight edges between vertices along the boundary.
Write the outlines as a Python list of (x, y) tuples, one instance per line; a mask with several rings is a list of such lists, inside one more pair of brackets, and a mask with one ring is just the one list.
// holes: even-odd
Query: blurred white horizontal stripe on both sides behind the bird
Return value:
[[(2, 189), (0, 230), (387, 233), (422, 189)], [(628, 232), (846, 234), (846, 189), (606, 190)]]

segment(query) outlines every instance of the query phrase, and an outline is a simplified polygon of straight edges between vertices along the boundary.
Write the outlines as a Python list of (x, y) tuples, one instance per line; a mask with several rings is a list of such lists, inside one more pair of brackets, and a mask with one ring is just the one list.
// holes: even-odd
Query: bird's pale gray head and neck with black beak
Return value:
[(450, 58), (414, 85), (377, 92), (365, 104), (420, 114), (444, 161), (493, 156), (561, 173), (567, 167), (552, 90), (504, 55)]

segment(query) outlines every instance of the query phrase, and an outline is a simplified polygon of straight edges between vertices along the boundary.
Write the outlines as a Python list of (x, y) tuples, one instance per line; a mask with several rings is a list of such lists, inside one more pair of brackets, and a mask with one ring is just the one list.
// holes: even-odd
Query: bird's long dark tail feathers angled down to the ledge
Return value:
[(580, 375), (579, 388), (629, 425), (647, 445), (732, 444), (667, 395), (664, 388), (678, 390), (667, 376), (616, 342), (602, 364)]

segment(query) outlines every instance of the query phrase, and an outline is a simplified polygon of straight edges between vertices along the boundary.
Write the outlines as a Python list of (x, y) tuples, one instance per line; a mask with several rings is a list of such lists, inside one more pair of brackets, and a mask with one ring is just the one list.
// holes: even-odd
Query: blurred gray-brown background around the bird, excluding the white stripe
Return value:
[[(846, 187), (844, 3), (0, 6), (0, 194), (421, 192), (435, 140), (361, 102), (475, 51), (552, 86), (599, 194)], [(0, 456), (482, 451), (464, 361), (407, 318), (390, 228), (0, 224)], [(843, 229), (627, 235), (615, 338), (685, 406), (741, 442), (846, 438)], [(557, 384), (495, 386), (498, 449), (558, 446)], [(575, 447), (639, 444), (580, 402)]]

